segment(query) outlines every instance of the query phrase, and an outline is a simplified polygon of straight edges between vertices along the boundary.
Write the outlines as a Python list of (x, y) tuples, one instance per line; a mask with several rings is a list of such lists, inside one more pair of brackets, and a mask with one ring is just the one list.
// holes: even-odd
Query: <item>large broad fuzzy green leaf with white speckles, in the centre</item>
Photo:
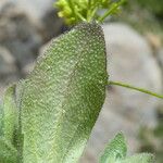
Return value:
[(101, 27), (82, 24), (52, 40), (22, 84), (24, 163), (76, 163), (105, 98)]

